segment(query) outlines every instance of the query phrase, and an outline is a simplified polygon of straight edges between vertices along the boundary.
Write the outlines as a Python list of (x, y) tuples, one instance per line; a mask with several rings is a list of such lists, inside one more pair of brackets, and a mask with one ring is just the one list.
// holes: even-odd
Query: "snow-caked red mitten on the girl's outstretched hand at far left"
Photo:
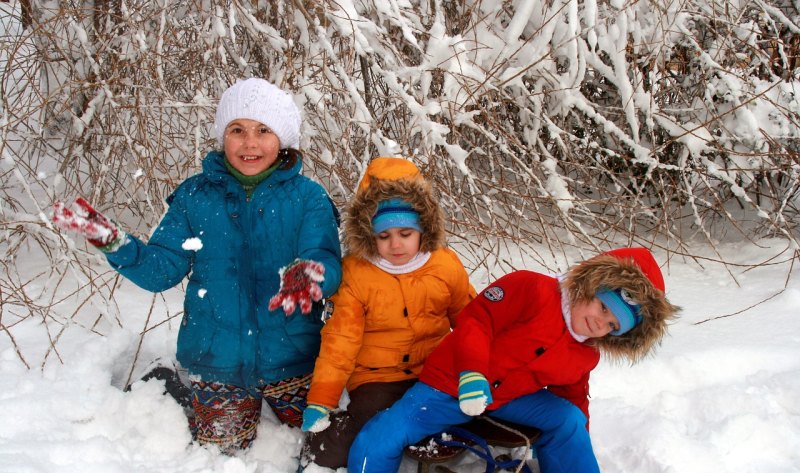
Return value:
[(53, 223), (62, 230), (83, 236), (100, 248), (115, 242), (120, 235), (114, 222), (92, 208), (83, 197), (75, 199), (72, 208), (56, 201), (53, 204)]

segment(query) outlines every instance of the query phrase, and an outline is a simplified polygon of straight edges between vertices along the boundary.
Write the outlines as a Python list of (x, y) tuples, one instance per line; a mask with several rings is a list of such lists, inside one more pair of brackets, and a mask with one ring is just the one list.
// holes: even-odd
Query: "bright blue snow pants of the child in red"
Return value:
[[(566, 399), (543, 389), (486, 414), (542, 431), (535, 444), (542, 473), (600, 472), (586, 416)], [(347, 471), (396, 473), (406, 446), (470, 419), (458, 399), (418, 382), (361, 429), (350, 448)]]

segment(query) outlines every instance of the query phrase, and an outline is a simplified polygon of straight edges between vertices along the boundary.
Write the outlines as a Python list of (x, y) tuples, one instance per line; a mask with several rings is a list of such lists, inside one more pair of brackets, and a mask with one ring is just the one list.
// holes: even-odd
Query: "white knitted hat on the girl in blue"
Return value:
[(222, 93), (214, 120), (220, 146), (225, 127), (239, 118), (267, 125), (278, 136), (281, 149), (300, 147), (300, 110), (291, 95), (264, 79), (240, 80)]

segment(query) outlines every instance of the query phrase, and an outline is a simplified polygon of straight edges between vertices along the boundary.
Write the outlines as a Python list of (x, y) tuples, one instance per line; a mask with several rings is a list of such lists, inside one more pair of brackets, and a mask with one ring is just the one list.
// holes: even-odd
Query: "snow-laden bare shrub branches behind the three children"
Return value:
[[(305, 172), (340, 207), (371, 158), (413, 159), (475, 272), (619, 244), (800, 246), (796, 4), (9, 5), (0, 328), (26, 365), (12, 333), (34, 320), (44, 360), (73, 327), (125, 323), (120, 278), (53, 229), (53, 201), (86, 196), (146, 238), (215, 146), (217, 97), (249, 76), (295, 94)], [(142, 336), (175, 317), (161, 309)]]

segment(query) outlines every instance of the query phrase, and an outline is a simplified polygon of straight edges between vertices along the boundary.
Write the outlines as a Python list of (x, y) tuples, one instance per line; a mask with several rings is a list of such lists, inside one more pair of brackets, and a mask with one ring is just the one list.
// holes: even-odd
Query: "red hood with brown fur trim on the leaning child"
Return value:
[(591, 342), (612, 359), (628, 358), (635, 363), (649, 355), (680, 310), (667, 300), (661, 269), (644, 248), (621, 248), (590, 258), (571, 268), (563, 284), (570, 305), (592, 299), (600, 288), (625, 289), (639, 303), (639, 325), (620, 336), (606, 335)]

